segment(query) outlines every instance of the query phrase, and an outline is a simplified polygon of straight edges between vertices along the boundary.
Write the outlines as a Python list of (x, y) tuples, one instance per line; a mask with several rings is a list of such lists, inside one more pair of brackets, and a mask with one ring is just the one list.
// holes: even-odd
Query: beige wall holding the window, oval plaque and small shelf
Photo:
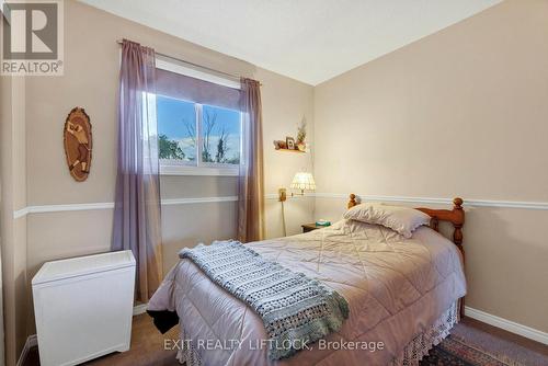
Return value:
[[(119, 69), (119, 46), (116, 41), (124, 37), (155, 47), (162, 54), (262, 82), (267, 194), (277, 192), (278, 186), (288, 186), (297, 170), (312, 170), (309, 153), (288, 156), (275, 152), (272, 145), (274, 139), (295, 135), (297, 123), (304, 116), (312, 129), (312, 87), (85, 4), (66, 1), (65, 76), (26, 78), (23, 82), (26, 87), (23, 93), (23, 101), (26, 101), (26, 116), (23, 117), (26, 121), (26, 133), (23, 131), (22, 141), (13, 145), (14, 149), (22, 149), (23, 155), (18, 159), (23, 163), (10, 165), (10, 169), (26, 173), (26, 183), (21, 185), (24, 197), (22, 207), (113, 202)], [(11, 101), (7, 101), (7, 105), (9, 102)], [(75, 106), (85, 108), (93, 126), (92, 169), (83, 183), (75, 182), (69, 175), (62, 149), (62, 126), (68, 112)], [(7, 176), (3, 170), (2, 176)], [(227, 176), (163, 175), (161, 191), (162, 198), (237, 195), (236, 179)], [(312, 205), (313, 199), (309, 198), (287, 203), (288, 233), (298, 232), (300, 224), (310, 221)], [(164, 205), (164, 272), (175, 263), (176, 252), (185, 245), (235, 238), (236, 206), (235, 202)], [(266, 207), (267, 236), (282, 236), (279, 203), (269, 199)], [(12, 208), (5, 206), (5, 213), (12, 215)], [(28, 317), (28, 321), (10, 323), (8, 342), (15, 339), (15, 333), (19, 342), (13, 354), (21, 351), (21, 340), (24, 343), (26, 335), (35, 332), (30, 291), (32, 276), (45, 261), (107, 251), (112, 232), (112, 209), (30, 214), (20, 220), (25, 226), (21, 230), (25, 238), (19, 239), (22, 244), (20, 251), (24, 249), (24, 253), (19, 254), (24, 261), (18, 262), (18, 265), (23, 265), (25, 276), (22, 279), (18, 277), (21, 296), (12, 302), (13, 307), (21, 309), (23, 319)], [(10, 228), (13, 226), (10, 222)], [(8, 262), (12, 265), (11, 261)], [(11, 272), (15, 270), (10, 270)], [(8, 282), (12, 285), (13, 276), (5, 277), (4, 281), (5, 285)]]

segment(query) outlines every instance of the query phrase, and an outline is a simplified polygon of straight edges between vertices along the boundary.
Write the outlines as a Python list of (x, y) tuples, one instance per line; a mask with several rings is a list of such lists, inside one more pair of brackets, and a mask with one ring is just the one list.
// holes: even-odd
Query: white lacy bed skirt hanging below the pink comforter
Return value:
[[(426, 331), (414, 338), (396, 357), (390, 366), (418, 366), (422, 357), (429, 354), (435, 345), (439, 344), (447, 335), (450, 329), (460, 320), (459, 318), (459, 301), (455, 301), (449, 309), (447, 309), (442, 317), (439, 317), (432, 327)], [(190, 340), (189, 334), (185, 333), (183, 325), (180, 325), (181, 340)], [(179, 350), (176, 358), (186, 366), (202, 366), (202, 359), (190, 345), (190, 342), (181, 342), (181, 350)]]

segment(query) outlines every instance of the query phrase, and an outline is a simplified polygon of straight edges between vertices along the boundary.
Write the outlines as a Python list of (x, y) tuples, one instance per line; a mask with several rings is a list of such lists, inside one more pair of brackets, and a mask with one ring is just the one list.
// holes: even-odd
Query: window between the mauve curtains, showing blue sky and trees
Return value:
[[(157, 62), (157, 67), (160, 172), (237, 175), (242, 146), (239, 90), (235, 88), (239, 85), (232, 82), (231, 88), (183, 75), (185, 70), (179, 65)], [(192, 73), (196, 76), (195, 70)]]

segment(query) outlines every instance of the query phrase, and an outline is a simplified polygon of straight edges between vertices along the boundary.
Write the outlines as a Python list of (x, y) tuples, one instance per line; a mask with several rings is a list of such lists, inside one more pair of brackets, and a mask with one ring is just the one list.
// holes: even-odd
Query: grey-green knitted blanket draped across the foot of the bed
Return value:
[(238, 241), (183, 249), (217, 285), (244, 301), (263, 320), (269, 357), (289, 357), (338, 331), (349, 305), (336, 291), (301, 273), (267, 261)]

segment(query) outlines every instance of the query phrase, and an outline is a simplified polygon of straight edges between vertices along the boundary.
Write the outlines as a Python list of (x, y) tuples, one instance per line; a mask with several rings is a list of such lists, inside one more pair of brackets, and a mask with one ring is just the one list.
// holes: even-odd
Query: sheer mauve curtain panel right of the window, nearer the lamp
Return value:
[(238, 181), (238, 240), (250, 242), (264, 238), (263, 121), (258, 81), (241, 79), (241, 111), (246, 138)]

